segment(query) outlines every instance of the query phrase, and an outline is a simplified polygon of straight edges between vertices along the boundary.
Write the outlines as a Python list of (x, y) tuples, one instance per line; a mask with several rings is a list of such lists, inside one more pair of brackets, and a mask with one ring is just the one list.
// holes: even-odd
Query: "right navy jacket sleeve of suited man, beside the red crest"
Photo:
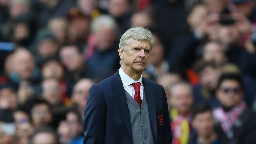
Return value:
[(163, 88), (163, 99), (164, 99), (164, 130), (162, 135), (162, 142), (163, 144), (171, 144), (172, 143), (172, 130), (171, 130), (171, 123), (169, 119), (169, 110), (167, 104), (166, 94)]

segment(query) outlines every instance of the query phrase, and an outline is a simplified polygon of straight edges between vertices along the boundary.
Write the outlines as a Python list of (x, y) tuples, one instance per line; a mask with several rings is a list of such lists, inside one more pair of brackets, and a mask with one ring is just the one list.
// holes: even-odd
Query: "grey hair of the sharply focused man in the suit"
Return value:
[[(135, 27), (128, 29), (121, 37), (119, 42), (119, 47), (122, 47), (123, 50), (126, 50), (126, 46), (132, 42), (132, 40), (147, 40), (150, 42), (150, 50), (152, 50), (154, 45), (154, 39), (150, 30), (143, 27)], [(122, 59), (120, 64), (122, 64)]]

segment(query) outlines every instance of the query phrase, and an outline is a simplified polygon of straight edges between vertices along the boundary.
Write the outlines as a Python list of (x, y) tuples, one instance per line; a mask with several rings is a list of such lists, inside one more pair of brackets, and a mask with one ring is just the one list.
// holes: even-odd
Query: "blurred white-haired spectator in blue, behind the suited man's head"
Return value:
[(117, 52), (117, 24), (115, 20), (108, 15), (101, 15), (94, 19), (91, 31), (95, 37), (95, 52), (87, 60), (89, 78), (95, 82), (113, 75), (118, 69)]

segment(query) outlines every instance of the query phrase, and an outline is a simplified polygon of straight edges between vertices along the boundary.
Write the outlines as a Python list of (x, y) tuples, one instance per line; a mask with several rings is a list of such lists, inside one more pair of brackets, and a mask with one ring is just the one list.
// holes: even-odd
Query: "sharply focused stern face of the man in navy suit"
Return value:
[(119, 56), (123, 59), (122, 66), (132, 73), (142, 72), (150, 56), (150, 42), (146, 40), (138, 41), (131, 39), (131, 43), (126, 46), (126, 50), (119, 47)]

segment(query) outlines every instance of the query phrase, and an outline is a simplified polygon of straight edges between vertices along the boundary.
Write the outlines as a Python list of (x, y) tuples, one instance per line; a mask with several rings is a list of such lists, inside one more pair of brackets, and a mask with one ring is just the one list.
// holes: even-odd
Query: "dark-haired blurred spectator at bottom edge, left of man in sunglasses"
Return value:
[(199, 104), (193, 109), (192, 127), (188, 144), (222, 144), (218, 133), (214, 129), (215, 119), (210, 105)]

